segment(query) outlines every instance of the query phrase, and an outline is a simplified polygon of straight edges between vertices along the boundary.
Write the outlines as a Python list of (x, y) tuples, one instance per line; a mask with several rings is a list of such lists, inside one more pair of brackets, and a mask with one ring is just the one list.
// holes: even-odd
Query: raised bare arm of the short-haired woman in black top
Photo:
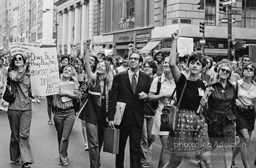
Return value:
[(176, 66), (176, 56), (177, 56), (177, 40), (179, 38), (178, 35), (179, 31), (175, 31), (175, 33), (172, 33), (171, 36), (173, 37), (173, 44), (171, 46), (171, 53), (169, 58), (169, 65), (171, 68), (171, 74), (173, 74), (174, 81), (179, 81), (181, 77), (181, 72), (179, 68)]

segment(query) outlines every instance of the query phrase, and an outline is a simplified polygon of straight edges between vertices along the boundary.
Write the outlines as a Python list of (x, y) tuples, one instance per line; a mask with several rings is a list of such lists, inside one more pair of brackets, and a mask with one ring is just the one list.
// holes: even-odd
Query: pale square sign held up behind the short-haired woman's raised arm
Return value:
[(191, 54), (194, 51), (193, 38), (179, 37), (178, 43), (179, 56), (183, 57), (185, 54)]

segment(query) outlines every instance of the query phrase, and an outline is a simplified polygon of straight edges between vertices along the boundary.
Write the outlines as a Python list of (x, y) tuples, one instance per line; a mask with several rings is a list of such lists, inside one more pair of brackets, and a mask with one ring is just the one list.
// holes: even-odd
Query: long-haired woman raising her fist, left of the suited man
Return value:
[(91, 167), (100, 167), (100, 150), (104, 138), (104, 127), (108, 125), (108, 100), (112, 87), (113, 74), (110, 64), (101, 61), (93, 73), (89, 64), (89, 46), (91, 39), (87, 39), (85, 49), (85, 70), (88, 78), (89, 94), (85, 104), (85, 122), (89, 144), (89, 158)]

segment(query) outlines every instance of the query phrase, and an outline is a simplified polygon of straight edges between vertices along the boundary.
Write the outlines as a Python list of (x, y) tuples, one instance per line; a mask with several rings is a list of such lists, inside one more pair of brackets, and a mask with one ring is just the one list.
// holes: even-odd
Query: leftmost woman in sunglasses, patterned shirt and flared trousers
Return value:
[(16, 87), (16, 98), (9, 103), (8, 119), (11, 127), (10, 156), (16, 165), (30, 167), (33, 163), (30, 148), (30, 125), (32, 119), (32, 102), (29, 59), (16, 54), (10, 63), (7, 81)]

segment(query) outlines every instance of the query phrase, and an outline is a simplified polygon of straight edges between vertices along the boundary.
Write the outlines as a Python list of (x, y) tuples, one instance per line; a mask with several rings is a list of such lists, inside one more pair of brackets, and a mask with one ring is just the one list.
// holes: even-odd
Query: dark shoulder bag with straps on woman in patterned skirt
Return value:
[[(186, 83), (182, 90), (181, 98), (180, 98), (177, 106), (173, 106), (171, 104), (168, 104), (167, 106), (163, 106), (161, 120), (160, 120), (161, 121), (160, 131), (169, 131), (169, 132), (176, 131), (177, 123), (178, 123), (179, 108), (180, 108), (181, 99), (182, 99), (185, 88), (186, 88)], [(173, 94), (171, 95), (169, 102), (171, 102), (171, 100), (173, 100), (173, 95), (174, 95), (175, 91), (176, 91), (176, 89), (173, 91)]]

